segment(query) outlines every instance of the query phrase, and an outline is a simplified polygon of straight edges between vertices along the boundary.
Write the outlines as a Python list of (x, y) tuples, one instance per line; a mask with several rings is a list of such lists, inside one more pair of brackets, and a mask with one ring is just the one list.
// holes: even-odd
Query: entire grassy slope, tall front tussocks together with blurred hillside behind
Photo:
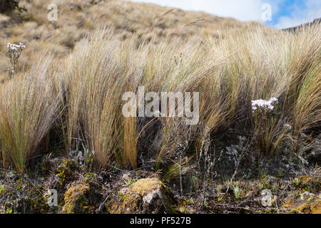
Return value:
[[(235, 193), (235, 177), (320, 164), (320, 24), (294, 34), (153, 4), (53, 2), (58, 21), (40, 0), (0, 14), (4, 169), (81, 151), (94, 172), (155, 172), (203, 204), (218, 175)], [(26, 46), (14, 73), (8, 42)], [(122, 96), (138, 86), (199, 92), (199, 123), (125, 118)]]

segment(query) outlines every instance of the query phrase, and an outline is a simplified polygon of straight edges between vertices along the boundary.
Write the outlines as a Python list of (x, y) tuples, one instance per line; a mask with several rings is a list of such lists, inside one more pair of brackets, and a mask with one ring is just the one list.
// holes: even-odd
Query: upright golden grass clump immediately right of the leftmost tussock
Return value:
[[(105, 30), (89, 39), (78, 43), (61, 75), (67, 90), (67, 145), (80, 140), (100, 167), (110, 165), (111, 157), (135, 167), (136, 122), (124, 120), (121, 113), (123, 93), (137, 87), (131, 47)], [(128, 138), (132, 145), (124, 147)]]

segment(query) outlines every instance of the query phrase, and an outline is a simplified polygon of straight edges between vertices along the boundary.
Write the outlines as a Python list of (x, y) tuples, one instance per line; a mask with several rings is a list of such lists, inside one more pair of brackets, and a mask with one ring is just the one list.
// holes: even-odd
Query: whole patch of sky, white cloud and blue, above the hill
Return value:
[(321, 17), (321, 0), (131, 0), (290, 28)]

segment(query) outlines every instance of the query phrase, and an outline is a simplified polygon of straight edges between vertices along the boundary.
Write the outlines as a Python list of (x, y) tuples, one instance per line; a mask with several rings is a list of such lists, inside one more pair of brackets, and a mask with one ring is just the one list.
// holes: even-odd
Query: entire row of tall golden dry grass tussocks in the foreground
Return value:
[[(29, 78), (1, 85), (3, 155), (22, 172), (61, 112), (66, 149), (80, 142), (101, 168), (136, 168), (146, 152), (138, 149), (139, 136), (155, 119), (161, 124), (155, 128), (161, 135), (152, 155), (156, 169), (177, 165), (178, 156), (183, 162), (199, 155), (222, 125), (251, 138), (252, 152), (275, 155), (285, 146), (302, 152), (301, 133), (320, 128), (319, 30), (292, 34), (258, 26), (229, 38), (168, 37), (157, 43), (151, 42), (157, 35), (137, 43), (136, 36), (123, 40), (113, 28), (96, 31), (54, 68), (39, 63)], [(48, 68), (58, 75), (54, 85)], [(141, 128), (139, 118), (122, 114), (123, 93), (137, 94), (138, 86), (146, 92), (200, 93), (200, 122), (146, 118)], [(279, 99), (272, 112), (253, 113), (251, 100), (271, 97)]]

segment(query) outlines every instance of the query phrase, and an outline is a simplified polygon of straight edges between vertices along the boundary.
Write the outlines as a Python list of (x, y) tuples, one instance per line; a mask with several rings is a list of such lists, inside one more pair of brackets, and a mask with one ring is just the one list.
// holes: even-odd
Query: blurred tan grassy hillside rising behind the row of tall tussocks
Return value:
[[(58, 21), (47, 19), (49, 10), (46, 1), (21, 1), (28, 11), (0, 17), (0, 51), (6, 43), (28, 43), (28, 49), (20, 59), (20, 68), (30, 68), (40, 51), (49, 49), (59, 57), (72, 51), (84, 36), (96, 28), (108, 27), (122, 40), (141, 38), (158, 43), (166, 37), (187, 39), (195, 36), (225, 38), (239, 33), (239, 30), (253, 31), (257, 23), (240, 23), (201, 12), (186, 12), (153, 4), (129, 1), (59, 1)], [(6, 58), (0, 57), (0, 74), (6, 74)]]

